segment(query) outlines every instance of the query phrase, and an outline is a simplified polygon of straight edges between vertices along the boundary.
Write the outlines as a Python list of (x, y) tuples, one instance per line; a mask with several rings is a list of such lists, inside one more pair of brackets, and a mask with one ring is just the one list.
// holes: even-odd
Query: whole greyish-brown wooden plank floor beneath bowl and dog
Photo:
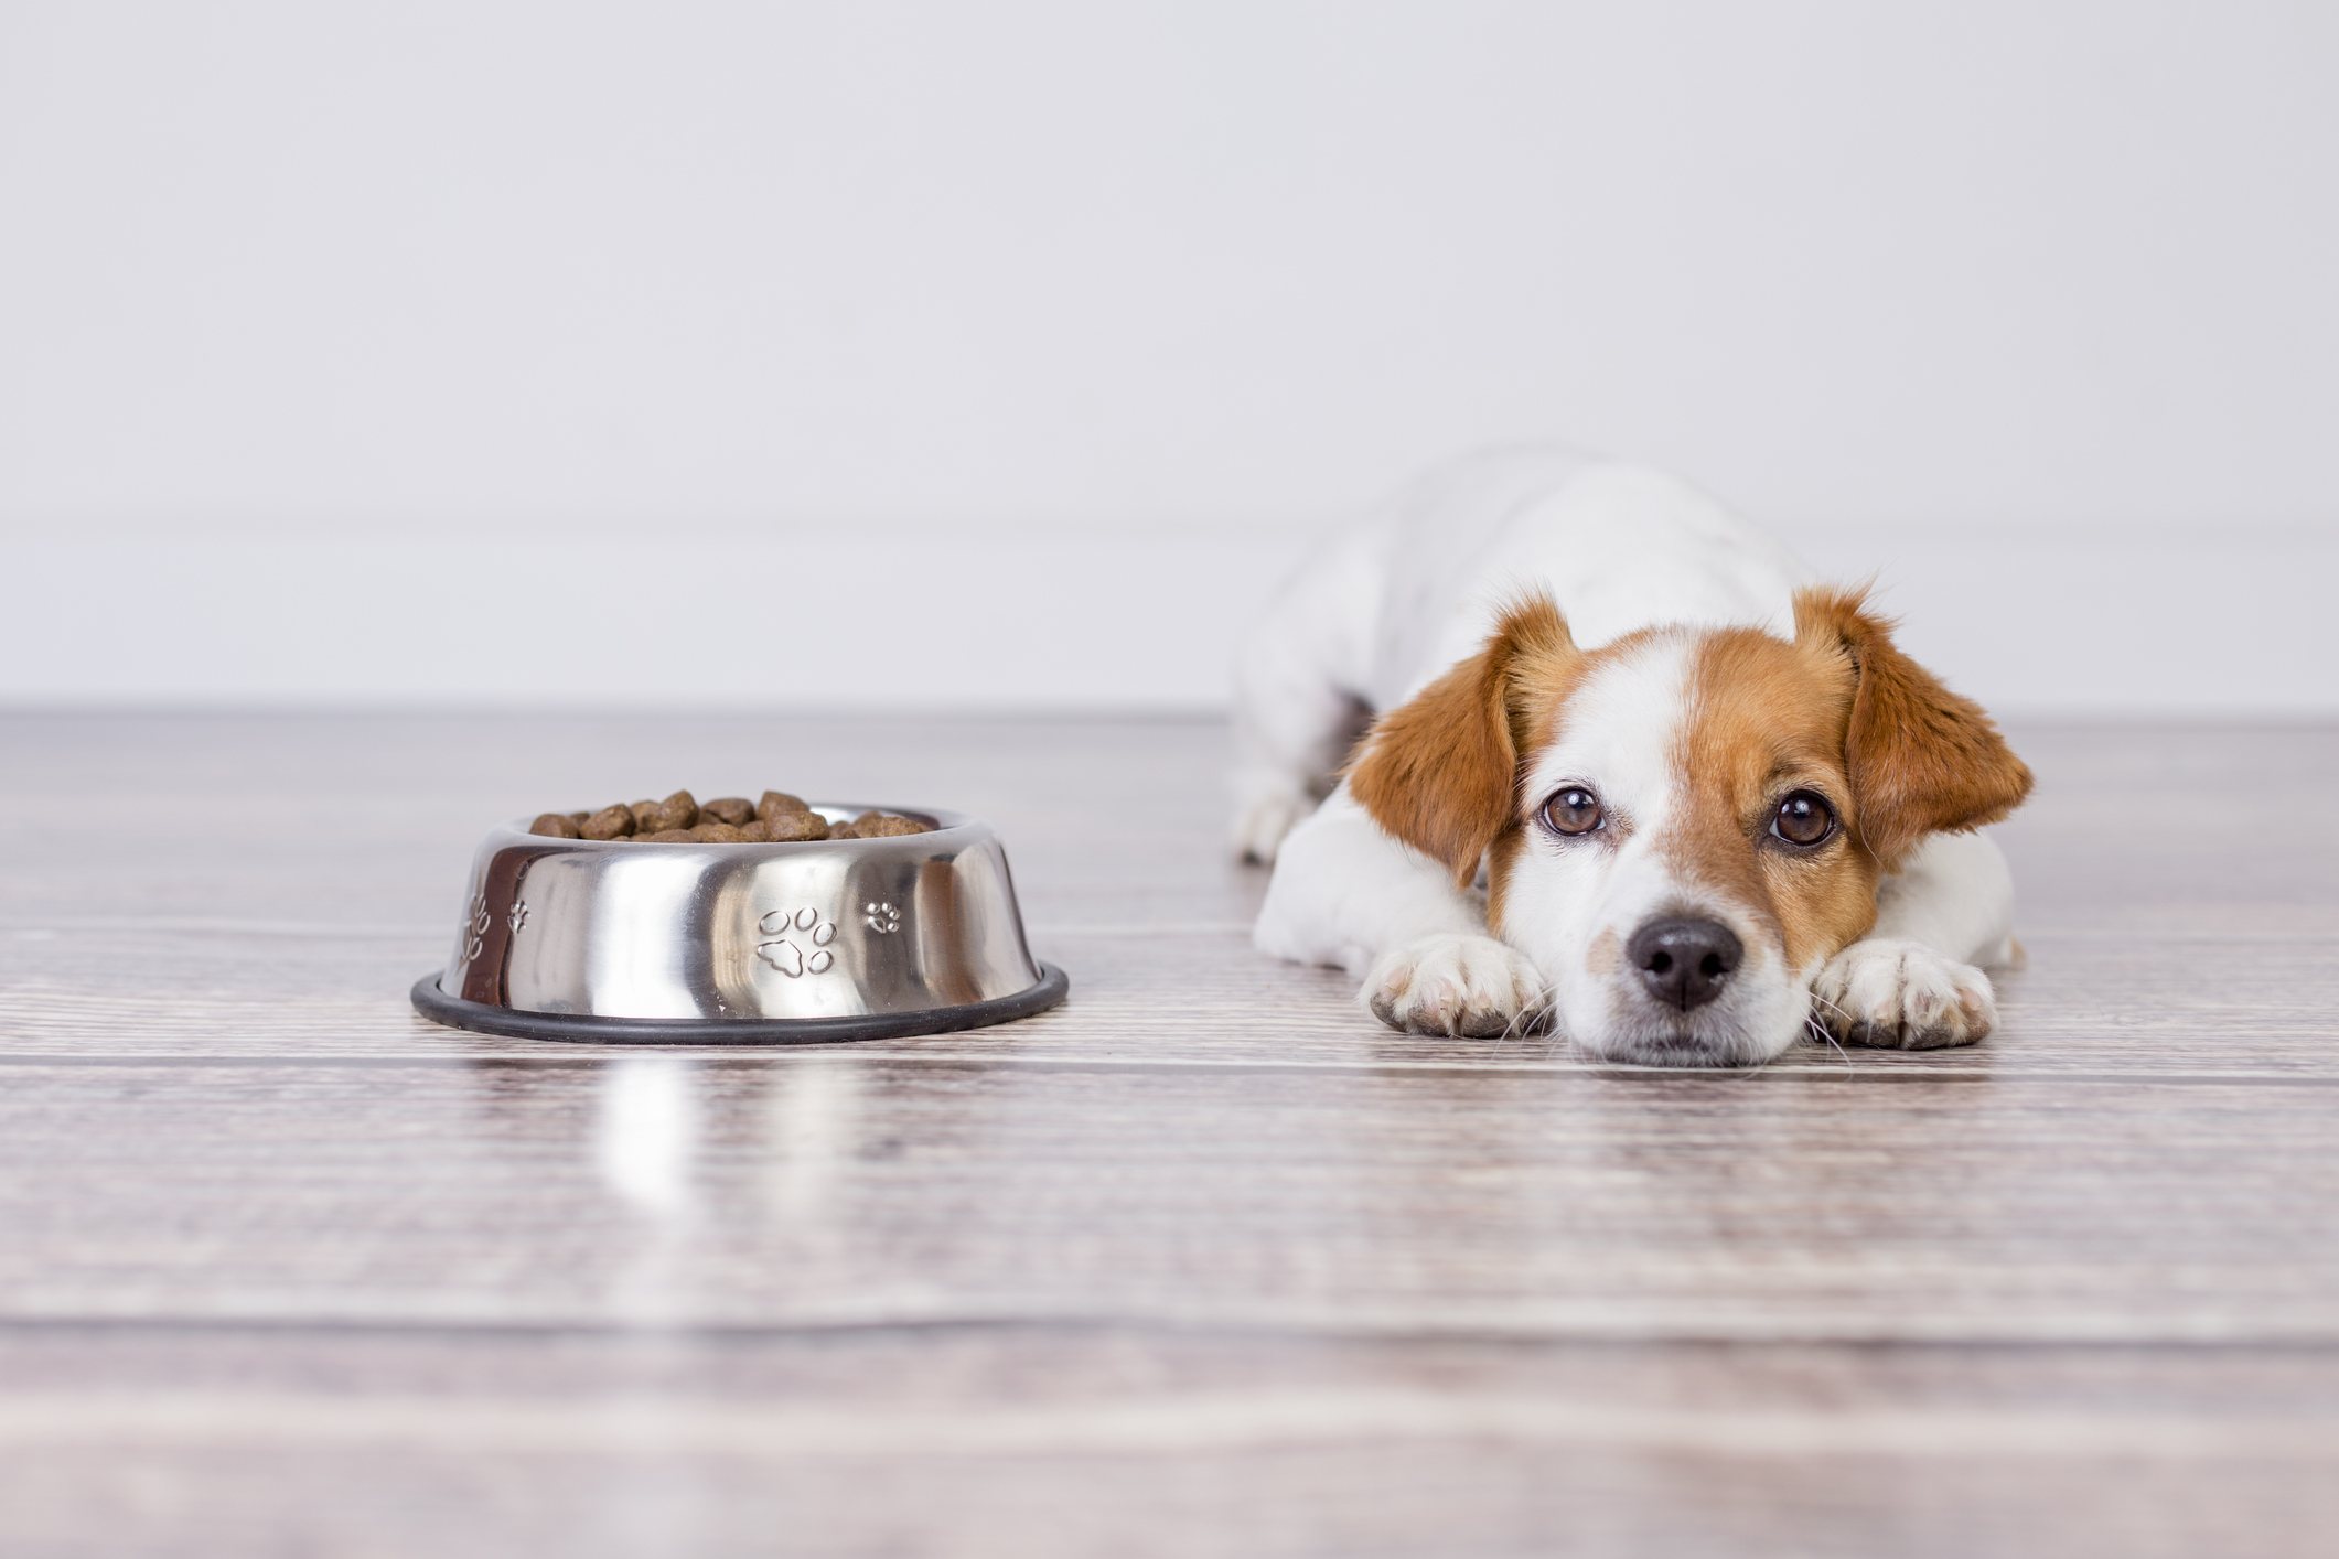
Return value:
[[(1969, 1052), (1382, 1031), (1214, 725), (0, 720), (0, 1554), (2339, 1552), (2339, 732), (2023, 729)], [(1071, 1000), (435, 1028), (496, 818), (1003, 832)]]

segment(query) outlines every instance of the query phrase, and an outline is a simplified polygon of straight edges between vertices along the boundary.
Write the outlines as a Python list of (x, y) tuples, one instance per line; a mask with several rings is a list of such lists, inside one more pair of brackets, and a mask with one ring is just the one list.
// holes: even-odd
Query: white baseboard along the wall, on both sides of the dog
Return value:
[[(23, 538), (14, 706), (1207, 711), (1308, 535), (620, 540)], [(2339, 538), (1803, 533), (2007, 715), (2339, 715)]]

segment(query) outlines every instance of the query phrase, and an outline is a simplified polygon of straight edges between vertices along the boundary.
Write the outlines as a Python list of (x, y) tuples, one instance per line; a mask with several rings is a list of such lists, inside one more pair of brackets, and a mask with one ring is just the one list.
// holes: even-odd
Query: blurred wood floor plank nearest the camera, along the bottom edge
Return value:
[(2339, 1515), (2297, 1353), (96, 1328), (0, 1330), (0, 1379), (19, 1552), (2304, 1557)]

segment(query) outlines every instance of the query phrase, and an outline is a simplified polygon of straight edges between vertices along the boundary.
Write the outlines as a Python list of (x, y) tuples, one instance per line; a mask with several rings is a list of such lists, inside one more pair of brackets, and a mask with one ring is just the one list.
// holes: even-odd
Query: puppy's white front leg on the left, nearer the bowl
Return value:
[(1481, 898), (1382, 832), (1345, 785), (1284, 839), (1251, 940), (1364, 975), (1357, 998), (1406, 1033), (1492, 1038), (1544, 1007), (1534, 965), (1485, 935)]

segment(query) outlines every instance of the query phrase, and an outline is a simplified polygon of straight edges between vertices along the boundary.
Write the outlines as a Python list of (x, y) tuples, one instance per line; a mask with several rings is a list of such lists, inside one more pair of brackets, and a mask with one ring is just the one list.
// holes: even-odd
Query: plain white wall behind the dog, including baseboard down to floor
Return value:
[(2334, 199), (2327, 5), (0, 5), (0, 701), (1212, 704), (1567, 435), (2330, 715)]

